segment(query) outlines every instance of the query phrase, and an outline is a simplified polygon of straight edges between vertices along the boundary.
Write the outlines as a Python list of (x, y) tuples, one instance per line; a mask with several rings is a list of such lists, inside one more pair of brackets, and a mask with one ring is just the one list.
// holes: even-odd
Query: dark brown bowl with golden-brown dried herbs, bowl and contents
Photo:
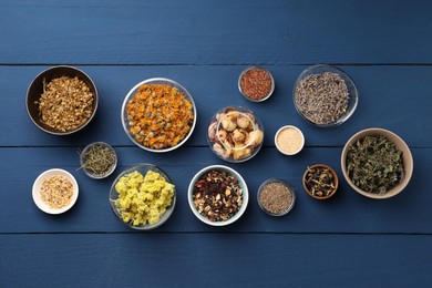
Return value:
[(82, 130), (97, 109), (97, 90), (83, 71), (52, 66), (37, 75), (25, 96), (27, 112), (40, 130), (69, 135)]

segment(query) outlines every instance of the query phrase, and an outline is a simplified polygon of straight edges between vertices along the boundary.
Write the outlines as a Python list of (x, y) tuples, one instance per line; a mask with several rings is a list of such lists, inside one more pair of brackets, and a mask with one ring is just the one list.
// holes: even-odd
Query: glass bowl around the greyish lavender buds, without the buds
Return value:
[[(343, 80), (344, 84), (347, 85), (347, 90), (348, 90), (348, 103), (347, 103), (347, 107), (346, 107), (344, 112), (339, 117), (337, 117), (333, 121), (326, 122), (325, 124), (319, 124), (319, 123), (313, 122), (310, 119), (310, 116), (307, 116), (305, 114), (307, 107), (310, 107), (311, 110), (312, 109), (315, 110), (315, 107), (310, 103), (310, 97), (305, 103), (305, 106), (300, 107), (300, 105), (299, 105), (300, 101), (297, 101), (297, 89), (309, 76), (317, 75), (317, 74), (322, 74), (322, 73), (326, 73), (326, 72), (336, 73)], [(347, 73), (344, 73), (342, 70), (340, 70), (340, 69), (338, 69), (336, 66), (319, 64), (319, 65), (309, 66), (304, 72), (301, 72), (301, 74), (298, 76), (298, 79), (296, 81), (296, 84), (294, 86), (292, 99), (294, 99), (294, 104), (296, 106), (297, 112), (308, 123), (310, 123), (312, 125), (316, 125), (316, 126), (319, 126), (319, 127), (332, 127), (332, 126), (338, 126), (338, 125), (344, 123), (354, 113), (357, 104), (358, 104), (358, 101), (359, 101), (359, 94), (358, 94), (358, 91), (357, 91), (354, 82), (352, 81), (352, 79)], [(322, 102), (326, 102), (326, 101), (322, 100)], [(323, 105), (328, 106), (327, 102)], [(311, 115), (317, 115), (317, 111), (311, 113)]]

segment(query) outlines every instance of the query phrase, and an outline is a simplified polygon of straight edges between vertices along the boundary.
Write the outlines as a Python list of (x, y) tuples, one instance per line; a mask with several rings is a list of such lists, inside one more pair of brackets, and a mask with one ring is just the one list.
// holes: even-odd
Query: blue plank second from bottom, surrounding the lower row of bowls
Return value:
[[(229, 164), (246, 179), (250, 202), (240, 220), (229, 227), (217, 228), (202, 224), (187, 203), (187, 187), (200, 168), (225, 164), (207, 147), (181, 148), (175, 153), (151, 154), (137, 147), (116, 147), (120, 166), (114, 175), (95, 181), (76, 171), (79, 156), (75, 147), (1, 148), (0, 158), (0, 233), (107, 233), (132, 232), (111, 212), (109, 191), (123, 169), (136, 163), (153, 163), (172, 176), (177, 188), (177, 204), (172, 218), (157, 232), (233, 232), (233, 233), (432, 233), (428, 173), (432, 162), (431, 148), (413, 148), (414, 176), (404, 192), (385, 199), (366, 198), (351, 188), (340, 169), (340, 148), (306, 148), (295, 157), (285, 157), (276, 148), (266, 147), (246, 163)], [(326, 163), (340, 177), (338, 194), (326, 202), (309, 197), (301, 186), (308, 165)], [(47, 215), (38, 209), (31, 197), (33, 181), (45, 169), (60, 167), (78, 179), (80, 197), (64, 215)], [(256, 193), (267, 178), (277, 177), (290, 183), (297, 203), (285, 217), (270, 217), (257, 204)]]

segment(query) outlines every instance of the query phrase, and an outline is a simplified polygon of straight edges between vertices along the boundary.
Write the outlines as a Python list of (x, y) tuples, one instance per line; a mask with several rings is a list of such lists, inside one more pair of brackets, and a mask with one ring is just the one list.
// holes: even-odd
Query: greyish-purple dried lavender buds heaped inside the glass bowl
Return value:
[(316, 124), (338, 121), (348, 109), (349, 92), (337, 73), (311, 74), (300, 81), (295, 91), (298, 110)]

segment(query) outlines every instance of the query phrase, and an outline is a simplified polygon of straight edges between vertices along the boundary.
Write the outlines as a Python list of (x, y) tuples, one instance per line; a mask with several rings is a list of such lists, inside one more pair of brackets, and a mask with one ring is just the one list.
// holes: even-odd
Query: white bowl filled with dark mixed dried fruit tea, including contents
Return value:
[(187, 200), (191, 210), (203, 223), (226, 226), (245, 213), (249, 193), (237, 171), (224, 165), (212, 165), (192, 178)]

